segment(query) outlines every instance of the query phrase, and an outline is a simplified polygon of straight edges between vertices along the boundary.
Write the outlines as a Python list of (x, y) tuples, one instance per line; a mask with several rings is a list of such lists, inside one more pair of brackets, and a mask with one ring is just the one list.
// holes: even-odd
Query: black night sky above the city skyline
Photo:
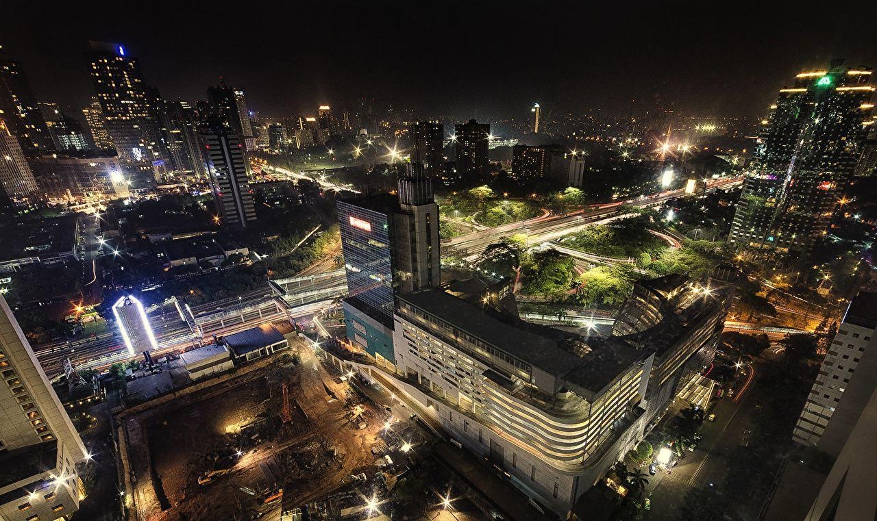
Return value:
[[(148, 84), (195, 100), (225, 76), (286, 115), (366, 95), (418, 116), (761, 116), (796, 72), (877, 66), (877, 2), (38, 2), (0, 7), (0, 44), (40, 100), (91, 95), (89, 39), (123, 43)], [(816, 9), (818, 5), (818, 9)]]

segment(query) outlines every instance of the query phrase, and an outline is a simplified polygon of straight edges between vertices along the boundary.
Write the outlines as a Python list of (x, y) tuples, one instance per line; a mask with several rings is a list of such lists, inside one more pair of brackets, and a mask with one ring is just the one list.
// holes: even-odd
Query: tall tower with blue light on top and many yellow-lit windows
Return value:
[(146, 94), (146, 84), (136, 58), (124, 46), (89, 42), (89, 74), (103, 111), (104, 126), (122, 161), (160, 160), (155, 144), (157, 122)]

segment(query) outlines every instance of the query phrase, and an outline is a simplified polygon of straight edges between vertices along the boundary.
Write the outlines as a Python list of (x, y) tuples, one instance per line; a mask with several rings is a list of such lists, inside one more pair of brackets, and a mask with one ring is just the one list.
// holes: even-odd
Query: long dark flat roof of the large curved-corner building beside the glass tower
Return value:
[(506, 323), (438, 289), (405, 293), (399, 299), (446, 320), (524, 363), (588, 391), (601, 391), (624, 369), (645, 356), (644, 352), (617, 339), (585, 339), (524, 320)]

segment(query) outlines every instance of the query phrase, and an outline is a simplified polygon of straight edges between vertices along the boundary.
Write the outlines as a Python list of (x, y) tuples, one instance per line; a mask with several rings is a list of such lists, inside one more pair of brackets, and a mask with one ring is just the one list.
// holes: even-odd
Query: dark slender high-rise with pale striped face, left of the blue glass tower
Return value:
[(217, 219), (227, 226), (246, 228), (256, 220), (256, 210), (243, 139), (225, 124), (213, 122), (203, 125), (201, 142)]

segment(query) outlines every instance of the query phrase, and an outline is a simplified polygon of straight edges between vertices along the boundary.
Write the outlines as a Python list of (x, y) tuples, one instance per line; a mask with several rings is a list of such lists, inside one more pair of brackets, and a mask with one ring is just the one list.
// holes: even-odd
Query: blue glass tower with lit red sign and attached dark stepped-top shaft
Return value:
[(396, 294), (441, 283), (439, 207), (420, 165), (408, 165), (398, 195), (338, 201), (347, 275), (348, 338), (392, 361)]

